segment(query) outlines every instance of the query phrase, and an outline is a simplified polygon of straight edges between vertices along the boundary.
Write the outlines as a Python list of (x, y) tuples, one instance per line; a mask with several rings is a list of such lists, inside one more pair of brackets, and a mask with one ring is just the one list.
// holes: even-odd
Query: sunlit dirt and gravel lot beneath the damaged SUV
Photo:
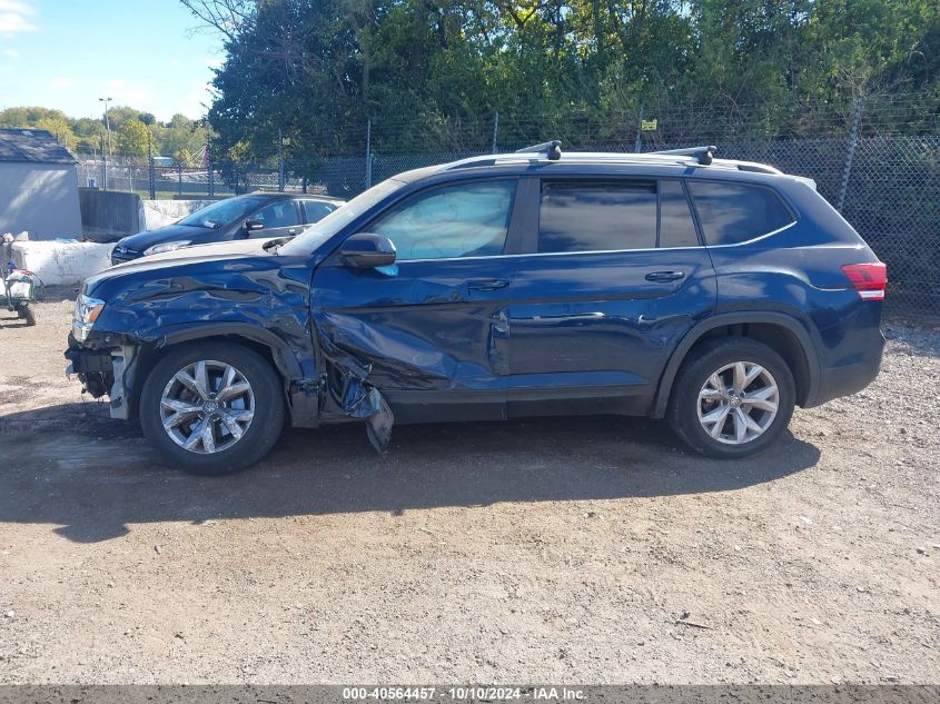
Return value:
[(546, 419), (202, 479), (66, 379), (66, 296), (0, 313), (0, 683), (940, 680), (940, 331), (752, 460)]

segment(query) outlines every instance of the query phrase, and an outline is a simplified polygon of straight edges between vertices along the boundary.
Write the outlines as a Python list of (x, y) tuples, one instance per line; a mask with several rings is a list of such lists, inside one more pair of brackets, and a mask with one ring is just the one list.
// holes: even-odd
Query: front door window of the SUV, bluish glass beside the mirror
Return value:
[(514, 180), (459, 184), (410, 198), (369, 229), (395, 244), (398, 261), (503, 254)]

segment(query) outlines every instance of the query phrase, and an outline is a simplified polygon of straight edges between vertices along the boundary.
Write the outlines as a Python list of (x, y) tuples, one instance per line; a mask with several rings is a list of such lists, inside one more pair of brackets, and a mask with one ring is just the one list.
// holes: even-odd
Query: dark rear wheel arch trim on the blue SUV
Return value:
[(820, 366), (813, 341), (803, 325), (783, 313), (738, 311), (703, 320), (682, 338), (660, 379), (653, 403), (654, 418), (665, 416), (675, 377), (695, 346), (728, 335), (756, 339), (775, 349), (796, 381), (796, 404), (812, 405), (819, 389)]

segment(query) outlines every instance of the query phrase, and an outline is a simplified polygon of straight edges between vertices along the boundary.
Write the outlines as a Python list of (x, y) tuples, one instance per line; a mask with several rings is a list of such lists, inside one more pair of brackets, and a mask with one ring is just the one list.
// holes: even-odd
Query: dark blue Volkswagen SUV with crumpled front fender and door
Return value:
[(199, 474), (354, 419), (385, 452), (394, 423), (641, 415), (745, 457), (874, 379), (887, 279), (811, 180), (713, 151), (408, 171), (293, 239), (91, 277), (66, 356)]

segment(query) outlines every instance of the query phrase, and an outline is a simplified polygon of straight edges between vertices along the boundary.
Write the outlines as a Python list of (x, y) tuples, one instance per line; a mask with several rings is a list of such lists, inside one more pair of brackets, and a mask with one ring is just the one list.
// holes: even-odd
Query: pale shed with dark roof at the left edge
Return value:
[(0, 235), (81, 238), (76, 159), (46, 130), (0, 129)]

